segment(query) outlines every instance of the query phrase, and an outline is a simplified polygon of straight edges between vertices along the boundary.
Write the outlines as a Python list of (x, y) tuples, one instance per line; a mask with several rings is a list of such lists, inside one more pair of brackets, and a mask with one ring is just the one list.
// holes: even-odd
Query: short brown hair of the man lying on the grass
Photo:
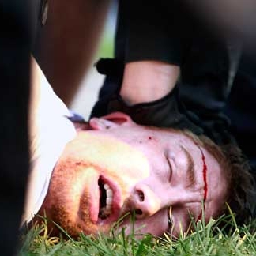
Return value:
[[(252, 216), (252, 206), (250, 200), (254, 198), (254, 179), (250, 174), (250, 164), (243, 155), (241, 149), (235, 144), (216, 145), (205, 136), (199, 136), (199, 140), (189, 131), (185, 132), (188, 137), (197, 141), (209, 153), (211, 153), (220, 164), (227, 181), (226, 202), (232, 213), (235, 213), (237, 224), (246, 223)], [(227, 205), (223, 205), (219, 214), (230, 214)]]

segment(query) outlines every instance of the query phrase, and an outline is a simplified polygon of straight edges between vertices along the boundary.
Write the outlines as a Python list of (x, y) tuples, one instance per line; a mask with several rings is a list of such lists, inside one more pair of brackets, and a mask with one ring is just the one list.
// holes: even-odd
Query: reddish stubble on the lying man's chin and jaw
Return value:
[[(86, 186), (89, 168), (92, 168), (92, 164), (71, 158), (60, 160), (55, 166), (47, 197), (40, 209), (40, 215), (45, 211), (47, 218), (73, 237), (77, 237), (81, 232), (93, 235), (109, 230), (108, 225), (99, 227), (90, 218), (90, 196)], [(58, 232), (55, 225), (51, 226), (54, 228), (53, 232)]]

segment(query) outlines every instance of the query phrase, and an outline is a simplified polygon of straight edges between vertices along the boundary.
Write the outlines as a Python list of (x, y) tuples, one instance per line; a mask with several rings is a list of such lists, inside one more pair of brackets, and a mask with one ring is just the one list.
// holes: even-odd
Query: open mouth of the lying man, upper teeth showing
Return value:
[(98, 185), (100, 189), (100, 204), (98, 217), (101, 220), (105, 220), (107, 219), (107, 217), (111, 216), (112, 213), (113, 190), (111, 190), (111, 187), (101, 178), (98, 180)]

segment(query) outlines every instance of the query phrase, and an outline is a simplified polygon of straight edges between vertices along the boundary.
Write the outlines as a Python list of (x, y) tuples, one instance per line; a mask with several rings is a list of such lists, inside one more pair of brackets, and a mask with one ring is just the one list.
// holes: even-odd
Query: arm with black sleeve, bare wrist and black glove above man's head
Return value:
[(171, 2), (168, 11), (163, 6), (164, 1), (154, 7), (131, 0), (119, 7), (115, 54), (125, 67), (119, 96), (112, 97), (107, 111), (126, 112), (143, 125), (190, 129), (200, 134), (201, 129), (190, 122), (179, 102), (177, 82), (184, 40), (177, 28), (182, 18), (176, 3)]

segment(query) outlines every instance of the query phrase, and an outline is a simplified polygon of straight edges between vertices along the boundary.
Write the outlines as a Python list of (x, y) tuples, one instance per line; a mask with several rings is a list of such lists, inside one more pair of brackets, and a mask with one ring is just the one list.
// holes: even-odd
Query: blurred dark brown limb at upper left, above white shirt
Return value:
[(70, 104), (92, 65), (110, 0), (51, 0), (38, 32), (36, 60), (58, 96)]

